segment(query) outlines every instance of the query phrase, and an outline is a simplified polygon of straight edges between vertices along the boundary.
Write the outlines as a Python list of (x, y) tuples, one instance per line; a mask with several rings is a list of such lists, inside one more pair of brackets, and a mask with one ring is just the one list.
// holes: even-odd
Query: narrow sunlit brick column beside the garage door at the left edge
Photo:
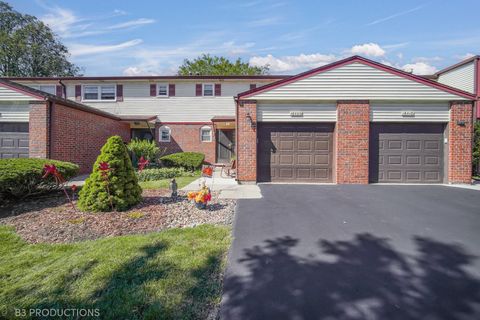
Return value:
[(48, 158), (50, 156), (48, 102), (30, 105), (29, 117), (29, 156), (30, 158)]

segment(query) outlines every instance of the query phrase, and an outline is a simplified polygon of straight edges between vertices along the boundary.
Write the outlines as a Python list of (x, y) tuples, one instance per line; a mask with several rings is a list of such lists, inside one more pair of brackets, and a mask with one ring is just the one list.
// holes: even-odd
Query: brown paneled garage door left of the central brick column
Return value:
[(258, 181), (332, 182), (333, 124), (261, 123)]

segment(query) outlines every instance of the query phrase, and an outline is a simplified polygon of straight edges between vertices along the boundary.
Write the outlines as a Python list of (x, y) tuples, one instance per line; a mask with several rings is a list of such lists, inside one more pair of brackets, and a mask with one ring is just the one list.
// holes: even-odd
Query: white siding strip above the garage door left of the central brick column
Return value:
[(308, 104), (262, 102), (257, 107), (257, 121), (335, 122), (337, 121), (337, 107), (335, 102)]

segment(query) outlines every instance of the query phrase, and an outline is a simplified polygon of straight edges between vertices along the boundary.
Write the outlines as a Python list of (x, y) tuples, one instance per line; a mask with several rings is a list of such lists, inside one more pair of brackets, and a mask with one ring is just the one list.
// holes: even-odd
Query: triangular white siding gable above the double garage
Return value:
[(350, 63), (250, 96), (256, 100), (467, 100), (363, 63)]

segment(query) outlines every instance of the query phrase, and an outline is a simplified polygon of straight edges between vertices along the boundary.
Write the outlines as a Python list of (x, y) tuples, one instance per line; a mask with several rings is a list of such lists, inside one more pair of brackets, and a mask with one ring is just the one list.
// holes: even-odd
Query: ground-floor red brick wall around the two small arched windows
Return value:
[[(171, 130), (170, 142), (161, 142), (159, 139), (160, 127), (167, 126)], [(200, 128), (212, 128), (212, 142), (200, 141)], [(215, 162), (215, 131), (213, 123), (174, 124), (162, 123), (156, 126), (156, 140), (160, 148), (166, 148), (166, 154), (176, 152), (201, 152), (205, 154), (205, 161)]]

